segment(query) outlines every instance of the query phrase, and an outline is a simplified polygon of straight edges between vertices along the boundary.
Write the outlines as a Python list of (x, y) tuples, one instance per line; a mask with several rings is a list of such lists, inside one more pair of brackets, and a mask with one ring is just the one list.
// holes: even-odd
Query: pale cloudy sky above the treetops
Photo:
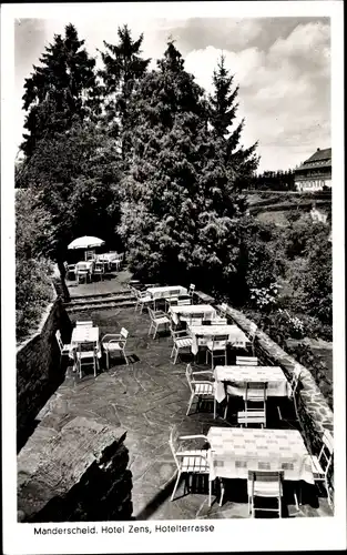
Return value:
[(118, 42), (127, 23), (134, 39), (144, 34), (143, 57), (151, 67), (162, 57), (169, 37), (185, 59), (185, 69), (212, 91), (212, 74), (223, 52), (239, 87), (237, 121), (245, 119), (242, 144), (258, 142), (259, 171), (300, 164), (330, 139), (330, 22), (328, 18), (191, 18), (134, 19), (112, 14), (94, 19), (17, 19), (14, 27), (14, 133), (23, 132), (24, 79), (39, 64), (54, 33), (73, 23), (91, 56), (100, 60), (103, 40)]

